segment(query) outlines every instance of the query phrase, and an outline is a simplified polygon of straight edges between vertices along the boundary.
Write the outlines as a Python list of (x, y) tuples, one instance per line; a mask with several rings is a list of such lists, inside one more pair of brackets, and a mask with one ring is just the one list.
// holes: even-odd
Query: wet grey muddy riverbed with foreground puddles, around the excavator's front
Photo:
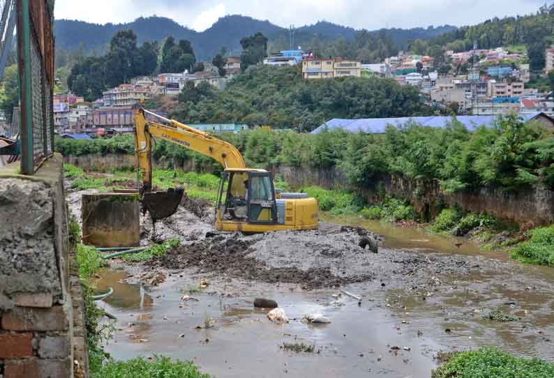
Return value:
[[(70, 192), (68, 203), (73, 213), (80, 213), (79, 192)], [(310, 232), (218, 233), (213, 228), (213, 209), (205, 205), (187, 200), (174, 216), (156, 223), (154, 238), (151, 222), (141, 220), (142, 244), (151, 239), (181, 241), (165, 257), (144, 264), (112, 263), (130, 275), (119, 279), (126, 283), (118, 283), (123, 286), (116, 292), (125, 293), (129, 290), (125, 285), (142, 282), (141, 293), (144, 289), (151, 301), (150, 307), (140, 310), (116, 305), (127, 298), (108, 302), (121, 329), (137, 324), (126, 331), (148, 340), (139, 347), (127, 333), (117, 333), (119, 344), (109, 348), (115, 356), (155, 352), (199, 358), (206, 372), (230, 377), (280, 377), (285, 370), (299, 377), (429, 377), (439, 349), (484, 345), (497, 345), (521, 356), (554, 359), (551, 269), (491, 258), (477, 247), (474, 252), (471, 245), (463, 245), (459, 253), (456, 247), (448, 252), (418, 248), (427, 235), (412, 235), (405, 243), (407, 248), (398, 240), (396, 247), (390, 248), (389, 236), (370, 233), (380, 239), (375, 254), (359, 247), (363, 233), (359, 229), (331, 223), (322, 223), (319, 230)], [(153, 281), (158, 276), (161, 281)], [(199, 294), (191, 292), (200, 302), (182, 303), (182, 292), (197, 287), (200, 278), (210, 282)], [(333, 300), (331, 294), (340, 289), (361, 296), (361, 305), (344, 295)], [(276, 298), (294, 320), (275, 333), (264, 315), (252, 308), (257, 296)], [(140, 303), (144, 303), (144, 295)], [(497, 309), (520, 320), (501, 323), (487, 319), (486, 315)], [(136, 323), (139, 311), (144, 320)], [(299, 320), (308, 311), (323, 312), (332, 323), (306, 328)], [(211, 341), (196, 340), (198, 331), (193, 329), (208, 316), (217, 324), (202, 331), (209, 334), (205, 340)], [(281, 358), (278, 343), (296, 336), (317, 340), (323, 348), (319, 357), (287, 354)], [(252, 343), (259, 350), (246, 347)], [(396, 345), (411, 349), (389, 353)], [(248, 358), (249, 354), (253, 355)], [(309, 365), (316, 363), (314, 358), (317, 366)], [(225, 370), (227, 361), (233, 364), (232, 372)], [(306, 363), (310, 368), (304, 372)], [(258, 366), (276, 370), (254, 374), (261, 371)]]

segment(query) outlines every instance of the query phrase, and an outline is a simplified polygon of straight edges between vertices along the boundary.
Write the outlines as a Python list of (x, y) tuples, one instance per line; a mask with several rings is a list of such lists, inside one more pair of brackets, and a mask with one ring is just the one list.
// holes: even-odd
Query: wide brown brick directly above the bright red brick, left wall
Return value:
[(2, 316), (2, 328), (10, 331), (66, 331), (68, 314), (66, 305), (51, 308), (15, 307)]

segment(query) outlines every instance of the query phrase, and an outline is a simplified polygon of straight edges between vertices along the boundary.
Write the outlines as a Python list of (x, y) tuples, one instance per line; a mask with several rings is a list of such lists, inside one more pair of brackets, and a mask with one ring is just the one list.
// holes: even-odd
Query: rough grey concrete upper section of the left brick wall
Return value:
[[(61, 294), (52, 187), (0, 177), (0, 292)], [(63, 198), (62, 198), (63, 200)]]

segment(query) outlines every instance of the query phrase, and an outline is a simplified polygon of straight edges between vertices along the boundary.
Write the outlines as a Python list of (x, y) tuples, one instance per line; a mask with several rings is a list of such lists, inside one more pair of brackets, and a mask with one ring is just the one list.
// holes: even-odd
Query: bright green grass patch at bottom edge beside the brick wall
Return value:
[(172, 361), (154, 356), (153, 361), (134, 358), (129, 361), (107, 361), (91, 378), (209, 378), (192, 362)]

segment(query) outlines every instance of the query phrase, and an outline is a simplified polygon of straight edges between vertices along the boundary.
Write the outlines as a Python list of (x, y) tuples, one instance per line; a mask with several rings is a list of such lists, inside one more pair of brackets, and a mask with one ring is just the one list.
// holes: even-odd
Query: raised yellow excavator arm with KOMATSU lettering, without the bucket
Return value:
[[(149, 121), (147, 114), (164, 123)], [(135, 166), (140, 167), (144, 192), (152, 188), (152, 138), (165, 139), (205, 156), (214, 158), (226, 168), (245, 168), (244, 159), (235, 146), (208, 133), (183, 123), (166, 119), (142, 108), (137, 108), (135, 121)]]

